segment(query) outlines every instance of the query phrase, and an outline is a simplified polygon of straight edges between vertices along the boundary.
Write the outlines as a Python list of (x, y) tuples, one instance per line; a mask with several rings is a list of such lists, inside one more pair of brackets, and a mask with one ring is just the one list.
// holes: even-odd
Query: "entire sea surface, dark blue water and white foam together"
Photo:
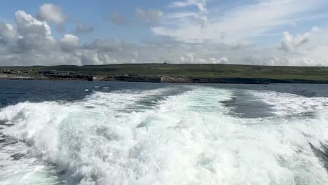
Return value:
[(328, 184), (328, 85), (0, 81), (0, 184)]

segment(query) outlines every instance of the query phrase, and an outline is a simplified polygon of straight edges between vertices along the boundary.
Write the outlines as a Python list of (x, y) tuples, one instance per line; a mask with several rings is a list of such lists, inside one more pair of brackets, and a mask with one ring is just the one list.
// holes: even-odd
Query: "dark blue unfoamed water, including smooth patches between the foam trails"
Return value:
[[(191, 84), (196, 85), (196, 84)], [(226, 101), (227, 106), (235, 109), (235, 115), (256, 118), (272, 116), (271, 107), (259, 102), (257, 97), (245, 93), (245, 90), (271, 90), (279, 93), (292, 93), (304, 97), (328, 97), (328, 85), (312, 84), (197, 84), (235, 90), (235, 97)], [(153, 95), (139, 102), (151, 104), (160, 98), (176, 95), (191, 88), (186, 84), (167, 83), (120, 83), (120, 82), (86, 82), (86, 81), (0, 81), (0, 107), (19, 102), (77, 101), (94, 92), (114, 92), (118, 90), (153, 90), (172, 87), (166, 94)]]

